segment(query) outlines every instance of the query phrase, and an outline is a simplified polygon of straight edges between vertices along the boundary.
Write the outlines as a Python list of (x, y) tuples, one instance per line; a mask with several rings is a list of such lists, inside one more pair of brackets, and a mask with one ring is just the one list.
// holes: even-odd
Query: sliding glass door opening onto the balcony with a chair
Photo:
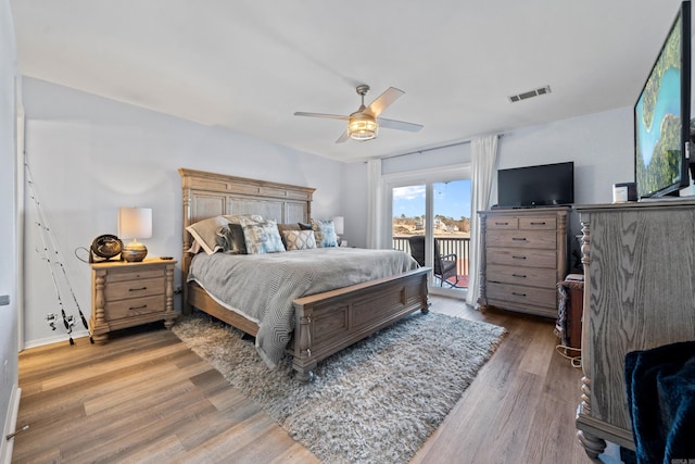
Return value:
[(451, 174), (424, 176), (425, 181), (418, 183), (389, 179), (390, 227), (394, 249), (432, 267), (432, 292), (464, 298), (470, 259), (470, 178)]

